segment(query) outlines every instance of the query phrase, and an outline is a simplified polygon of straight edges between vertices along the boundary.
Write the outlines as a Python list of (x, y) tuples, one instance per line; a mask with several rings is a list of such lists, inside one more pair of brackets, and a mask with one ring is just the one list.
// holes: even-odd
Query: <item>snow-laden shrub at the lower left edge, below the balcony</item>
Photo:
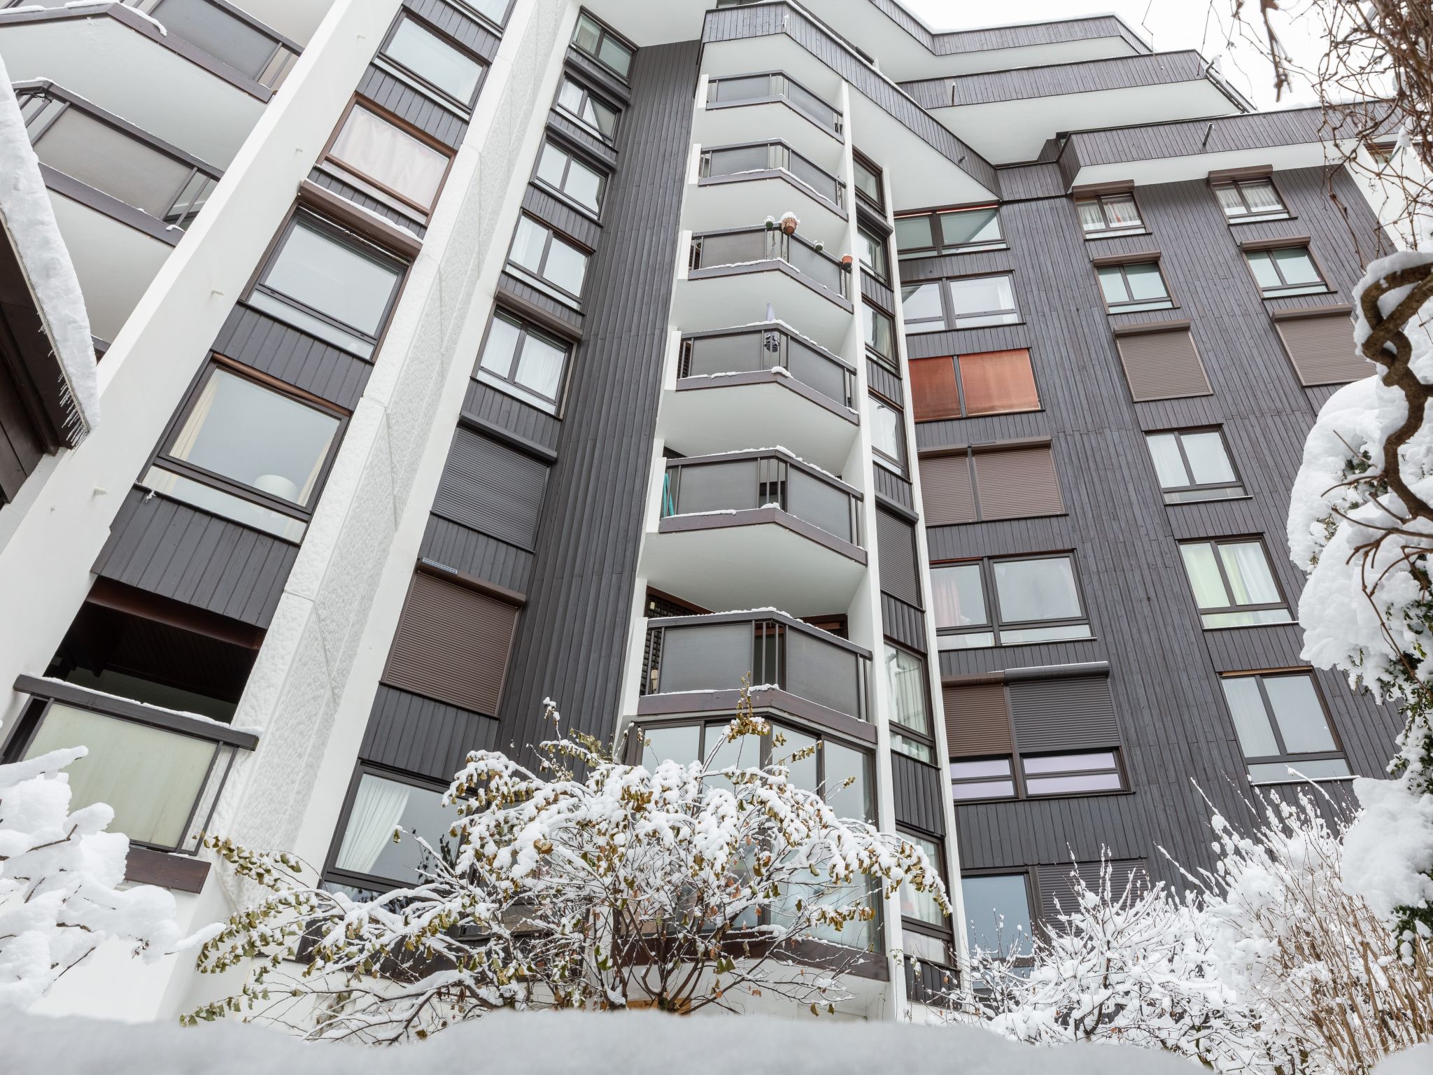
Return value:
[[(0, 765), (0, 1005), (29, 1006), (109, 939), (155, 960), (181, 942), (165, 889), (120, 890), (129, 840), (103, 803), (70, 813), (83, 747)], [(119, 983), (116, 983), (119, 985)]]

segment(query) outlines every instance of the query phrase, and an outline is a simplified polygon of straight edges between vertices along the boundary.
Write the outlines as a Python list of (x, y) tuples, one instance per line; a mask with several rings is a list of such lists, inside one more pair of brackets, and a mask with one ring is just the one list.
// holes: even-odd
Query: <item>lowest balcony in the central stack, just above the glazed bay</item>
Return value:
[[(870, 651), (775, 609), (649, 619), (638, 715), (731, 712), (742, 677), (759, 710), (873, 740)], [(764, 688), (764, 689), (759, 689)]]

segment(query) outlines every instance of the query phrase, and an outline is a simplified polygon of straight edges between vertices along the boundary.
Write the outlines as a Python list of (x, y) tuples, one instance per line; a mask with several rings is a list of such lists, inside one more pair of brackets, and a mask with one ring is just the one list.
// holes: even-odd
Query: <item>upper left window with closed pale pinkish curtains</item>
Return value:
[(447, 175), (449, 159), (377, 112), (354, 105), (328, 149), (327, 163), (340, 165), (348, 182), (378, 201), (391, 204), (396, 196), (427, 214)]

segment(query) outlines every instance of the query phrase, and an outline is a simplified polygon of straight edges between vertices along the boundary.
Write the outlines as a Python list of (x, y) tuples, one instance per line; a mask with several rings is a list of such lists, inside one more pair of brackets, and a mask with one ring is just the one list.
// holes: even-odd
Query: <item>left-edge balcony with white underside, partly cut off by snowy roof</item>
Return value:
[(49, 82), (14, 90), (92, 331), (113, 340), (219, 172)]

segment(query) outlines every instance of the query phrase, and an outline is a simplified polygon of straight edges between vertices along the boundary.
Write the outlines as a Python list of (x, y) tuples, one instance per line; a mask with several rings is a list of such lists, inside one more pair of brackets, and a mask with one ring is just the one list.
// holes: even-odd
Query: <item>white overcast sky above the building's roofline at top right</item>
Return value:
[[(1195, 49), (1205, 59), (1219, 57), (1219, 70), (1230, 85), (1258, 108), (1288, 108), (1313, 103), (1307, 87), (1274, 102), (1274, 79), (1268, 66), (1242, 42), (1231, 49), (1230, 10), (1232, 0), (1005, 0), (1000, 4), (972, 3), (972, 0), (901, 0), (934, 30), (964, 30), (999, 23), (1035, 23), (1045, 19), (1075, 19), (1083, 14), (1121, 16), (1156, 52)], [(1303, 6), (1307, 0), (1288, 0), (1285, 6)], [(1258, 0), (1247, 0), (1245, 7), (1257, 16)], [(820, 10), (820, 6), (817, 6)], [(997, 11), (997, 17), (992, 13)], [(1284, 46), (1295, 62), (1314, 66), (1324, 52), (1318, 27), (1310, 19), (1294, 19), (1284, 30)]]

